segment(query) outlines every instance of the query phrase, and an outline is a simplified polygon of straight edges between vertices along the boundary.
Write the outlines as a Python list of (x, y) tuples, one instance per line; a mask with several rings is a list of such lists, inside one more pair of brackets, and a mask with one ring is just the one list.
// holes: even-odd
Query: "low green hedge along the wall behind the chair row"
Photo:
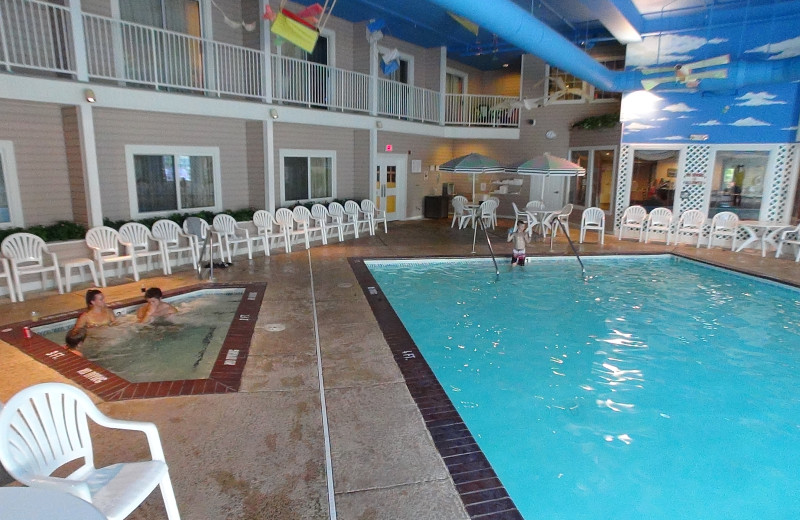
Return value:
[[(344, 204), (347, 199), (335, 199), (336, 202), (340, 204)], [(289, 206), (289, 209), (294, 209), (296, 206), (305, 206), (308, 209), (311, 209), (314, 202), (299, 202), (292, 206)], [(219, 213), (225, 213), (227, 215), (232, 216), (237, 221), (248, 221), (253, 220), (253, 214), (256, 212), (256, 208), (243, 208), (237, 210), (224, 210)], [(144, 224), (148, 228), (153, 226), (153, 223), (157, 220), (167, 219), (177, 222), (179, 225), (183, 225), (183, 221), (186, 217), (200, 217), (204, 219), (209, 224), (212, 220), (214, 220), (214, 215), (218, 215), (219, 213), (213, 211), (200, 211), (197, 213), (173, 213), (167, 217), (151, 217), (145, 218), (141, 220), (111, 220), (104, 218), (103, 225), (112, 227), (114, 229), (119, 229), (122, 227), (123, 224), (128, 222), (139, 222)], [(48, 226), (31, 226), (29, 228), (9, 228), (9, 229), (0, 229), (0, 242), (3, 241), (7, 236), (12, 235), (14, 233), (32, 233), (38, 237), (42, 237), (45, 242), (60, 242), (64, 240), (83, 240), (86, 237), (86, 227), (82, 226), (81, 224), (76, 224), (75, 222), (69, 222), (68, 220), (59, 220), (55, 224), (50, 224)]]

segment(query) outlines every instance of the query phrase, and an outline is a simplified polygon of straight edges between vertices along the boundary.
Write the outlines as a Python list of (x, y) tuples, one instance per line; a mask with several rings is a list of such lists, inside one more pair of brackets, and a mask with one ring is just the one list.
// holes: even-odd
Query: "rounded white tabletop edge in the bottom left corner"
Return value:
[(74, 495), (31, 487), (0, 487), (0, 518), (106, 520), (92, 504)]

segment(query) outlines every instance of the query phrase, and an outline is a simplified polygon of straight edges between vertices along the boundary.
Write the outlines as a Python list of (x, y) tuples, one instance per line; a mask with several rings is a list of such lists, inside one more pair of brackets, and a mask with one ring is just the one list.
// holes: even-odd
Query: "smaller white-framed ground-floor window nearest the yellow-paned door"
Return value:
[(336, 194), (336, 152), (281, 150), (281, 201), (331, 199)]

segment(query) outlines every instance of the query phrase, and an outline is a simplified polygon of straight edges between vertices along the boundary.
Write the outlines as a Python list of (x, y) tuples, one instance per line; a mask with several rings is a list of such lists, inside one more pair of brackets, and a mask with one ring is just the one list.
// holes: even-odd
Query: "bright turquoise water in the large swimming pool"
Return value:
[(367, 265), (525, 518), (796, 518), (800, 291), (585, 263)]

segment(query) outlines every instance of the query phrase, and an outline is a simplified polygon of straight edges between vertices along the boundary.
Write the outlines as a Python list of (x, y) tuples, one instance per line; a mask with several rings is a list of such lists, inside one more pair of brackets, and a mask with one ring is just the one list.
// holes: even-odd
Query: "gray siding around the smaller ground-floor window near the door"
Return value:
[[(281, 205), (280, 151), (282, 149), (335, 150), (336, 197), (364, 198), (366, 196), (368, 167), (361, 170), (360, 168), (363, 166), (359, 166), (359, 171), (356, 171), (354, 130), (293, 123), (276, 123), (274, 129), (275, 200), (278, 206)], [(369, 164), (369, 155), (367, 155), (367, 164)]]

